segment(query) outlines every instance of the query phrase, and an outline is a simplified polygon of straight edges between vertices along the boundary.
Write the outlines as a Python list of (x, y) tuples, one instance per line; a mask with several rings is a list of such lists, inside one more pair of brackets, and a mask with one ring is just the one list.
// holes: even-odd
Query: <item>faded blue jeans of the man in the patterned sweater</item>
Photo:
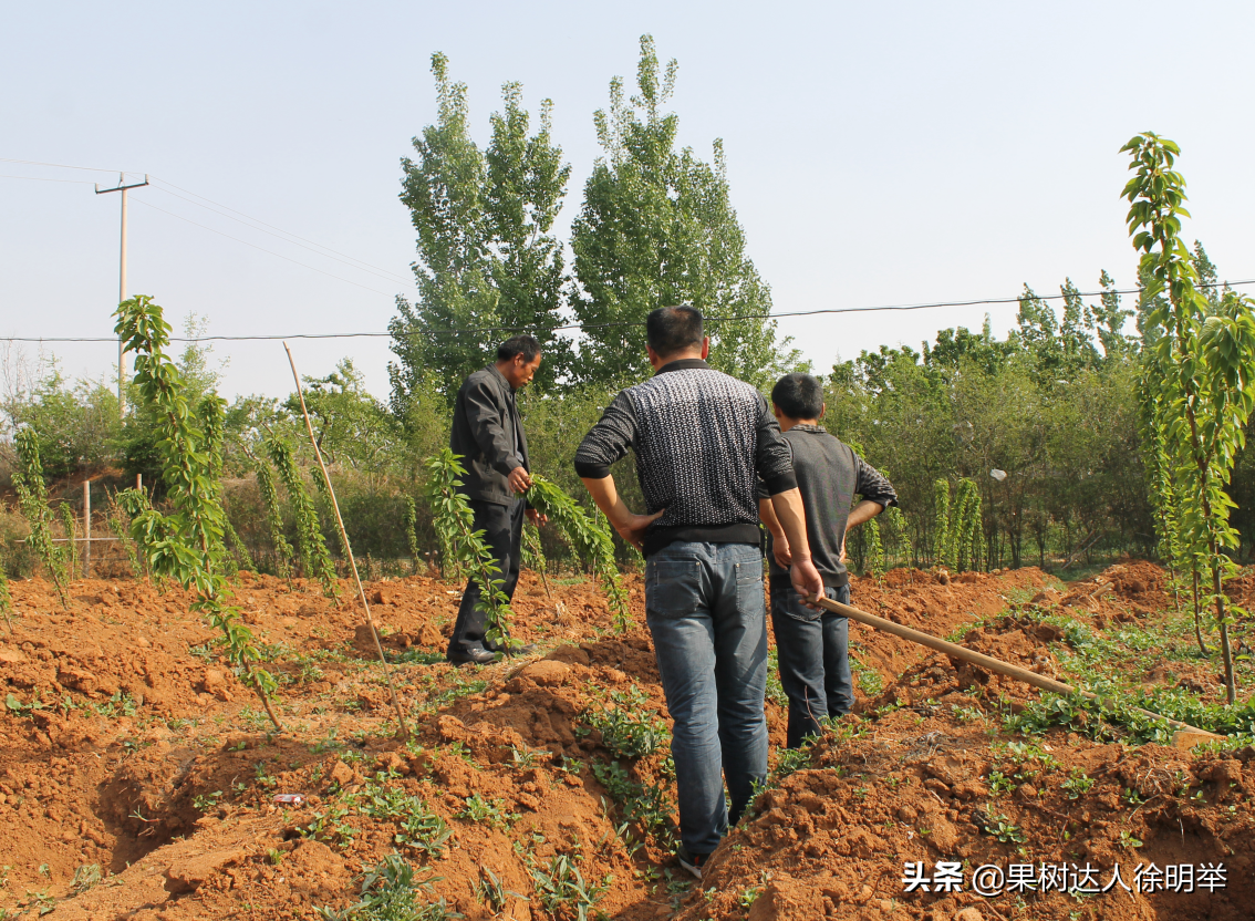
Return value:
[(671, 713), (680, 841), (705, 854), (767, 778), (763, 556), (745, 543), (671, 543), (645, 562), (645, 619)]

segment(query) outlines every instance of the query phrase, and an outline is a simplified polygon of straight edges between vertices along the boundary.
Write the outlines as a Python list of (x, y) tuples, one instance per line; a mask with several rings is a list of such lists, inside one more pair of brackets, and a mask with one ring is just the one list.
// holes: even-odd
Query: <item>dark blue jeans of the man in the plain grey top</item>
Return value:
[[(833, 601), (850, 604), (850, 586), (826, 587)], [(850, 679), (850, 621), (840, 614), (812, 610), (793, 586), (772, 580), (772, 626), (788, 696), (788, 747), (799, 748), (820, 721), (850, 713), (855, 686)]]

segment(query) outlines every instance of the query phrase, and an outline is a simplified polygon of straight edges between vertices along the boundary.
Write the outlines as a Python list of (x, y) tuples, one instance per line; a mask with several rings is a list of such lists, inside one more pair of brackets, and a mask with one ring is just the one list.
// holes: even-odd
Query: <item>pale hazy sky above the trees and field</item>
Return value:
[[(1190, 238), (1221, 277), (1255, 279), (1250, 3), (6, 3), (3, 24), (0, 336), (110, 335), (119, 196), (92, 183), (117, 171), (154, 179), (131, 193), (129, 292), (176, 327), (384, 331), (413, 295), (399, 159), (434, 119), (432, 53), (469, 84), (481, 143), (503, 82), (533, 113), (553, 100), (565, 235), (600, 153), (592, 113), (611, 77), (633, 84), (643, 33), (679, 59), (681, 142), (709, 159), (724, 139), (777, 311), (1057, 294), (1069, 276), (1093, 290), (1103, 269), (1130, 286), (1118, 151), (1143, 129), (1182, 148)], [(986, 310), (999, 334), (1014, 321), (1014, 305), (969, 306), (781, 330), (827, 370)], [(387, 339), (292, 345), (302, 374), (348, 355), (387, 398)], [(45, 349), (72, 376), (115, 360)], [(227, 397), (291, 390), (279, 343), (215, 354)]]

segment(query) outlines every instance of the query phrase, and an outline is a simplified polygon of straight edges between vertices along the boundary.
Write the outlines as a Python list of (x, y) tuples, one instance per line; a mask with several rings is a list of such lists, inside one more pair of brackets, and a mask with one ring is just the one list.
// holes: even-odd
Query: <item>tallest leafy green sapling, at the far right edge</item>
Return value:
[[(1210, 576), (1207, 602), (1215, 606), (1225, 685), (1234, 703), (1234, 619), (1224, 582), (1236, 572), (1229, 553), (1239, 536), (1229, 521), (1234, 503), (1226, 487), (1255, 409), (1255, 301), (1232, 291), (1210, 300), (1199, 287), (1199, 267), (1180, 238), (1181, 218), (1188, 217), (1185, 178), (1172, 168), (1180, 148), (1147, 132), (1121, 149), (1131, 154), (1135, 173), (1123, 197), (1133, 247), (1141, 253), (1138, 325), (1148, 365), (1143, 397), (1150, 427), (1158, 434), (1155, 464), (1163, 464), (1156, 473), (1166, 472), (1176, 487), (1168, 492), (1187, 558)], [(1165, 498), (1160, 492), (1162, 526), (1168, 524)]]

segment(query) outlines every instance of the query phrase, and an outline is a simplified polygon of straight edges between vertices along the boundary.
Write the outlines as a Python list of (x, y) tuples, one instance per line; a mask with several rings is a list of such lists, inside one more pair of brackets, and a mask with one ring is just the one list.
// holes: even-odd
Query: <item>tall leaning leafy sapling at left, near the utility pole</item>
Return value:
[[(114, 331), (127, 350), (136, 354), (136, 389), (159, 420), (157, 444), (171, 504), (168, 514), (153, 508), (136, 514), (132, 537), (144, 548), (148, 566), (156, 575), (176, 578), (196, 592), (192, 610), (203, 614), (222, 631), (227, 659), (257, 691), (271, 721), (281, 729), (270, 706), (275, 679), (259, 668), (252, 632), (240, 622), (238, 609), (226, 604), (230, 590), (217, 571), (226, 516), (218, 501), (217, 482), (212, 478), (213, 463), (206, 450), (206, 435), (195, 424), (182, 378), (164, 353), (169, 325), (162, 319), (161, 307), (143, 295), (123, 301), (114, 315), (118, 320)], [(221, 402), (213, 397), (212, 405), (203, 404), (203, 408), (205, 414), (221, 412)]]

